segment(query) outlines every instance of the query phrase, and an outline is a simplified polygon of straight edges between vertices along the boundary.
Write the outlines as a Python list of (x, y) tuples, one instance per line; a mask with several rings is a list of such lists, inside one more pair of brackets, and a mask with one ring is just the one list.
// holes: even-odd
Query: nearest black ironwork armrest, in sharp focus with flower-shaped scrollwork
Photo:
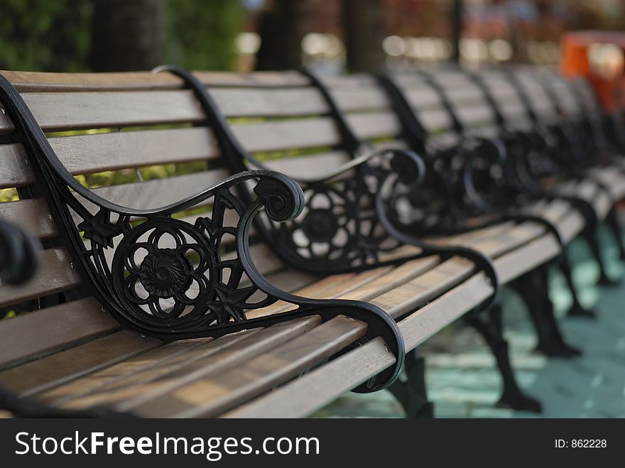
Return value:
[[(396, 356), (395, 364), (358, 390), (386, 388), (396, 379), (405, 350), (396, 322), (386, 312), (355, 300), (312, 300), (286, 293), (254, 265), (249, 247), (252, 219), (261, 211), (271, 223), (295, 219), (305, 200), (295, 181), (272, 171), (252, 170), (165, 207), (116, 205), (67, 171), (21, 96), (1, 76), (0, 93), (33, 160), (38, 183), (32, 189), (48, 200), (60, 239), (84, 281), (81, 292), (98, 298), (122, 325), (171, 341), (219, 337), (310, 315), (324, 321), (348, 315), (368, 325), (354, 346), (382, 337)], [(250, 181), (256, 182), (255, 199), (241, 196), (246, 193), (241, 186)], [(212, 204), (210, 215), (200, 215), (193, 224), (174, 217), (200, 203)], [(292, 307), (273, 315), (247, 316), (278, 300)]]

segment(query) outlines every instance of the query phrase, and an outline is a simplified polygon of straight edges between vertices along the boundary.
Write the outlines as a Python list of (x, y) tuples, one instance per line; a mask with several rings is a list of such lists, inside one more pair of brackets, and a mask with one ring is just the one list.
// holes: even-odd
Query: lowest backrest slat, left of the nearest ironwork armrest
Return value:
[(38, 359), (119, 327), (94, 298), (25, 312), (0, 322), (0, 369)]

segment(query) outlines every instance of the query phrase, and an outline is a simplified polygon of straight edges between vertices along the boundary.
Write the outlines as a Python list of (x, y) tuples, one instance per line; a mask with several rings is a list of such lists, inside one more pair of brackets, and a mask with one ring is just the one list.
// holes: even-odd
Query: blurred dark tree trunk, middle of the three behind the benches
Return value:
[(273, 0), (259, 25), (261, 48), (257, 70), (288, 70), (302, 66), (302, 39), (308, 33), (309, 0)]

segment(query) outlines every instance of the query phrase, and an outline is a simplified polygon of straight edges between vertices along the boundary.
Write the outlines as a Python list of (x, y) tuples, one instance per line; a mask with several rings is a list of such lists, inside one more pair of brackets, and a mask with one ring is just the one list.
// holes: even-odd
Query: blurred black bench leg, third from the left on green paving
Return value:
[(549, 299), (548, 271), (546, 266), (521, 276), (513, 283), (521, 295), (533, 322), (538, 343), (536, 352), (549, 357), (578, 357), (582, 355), (564, 341), (560, 326), (555, 319), (553, 303)]

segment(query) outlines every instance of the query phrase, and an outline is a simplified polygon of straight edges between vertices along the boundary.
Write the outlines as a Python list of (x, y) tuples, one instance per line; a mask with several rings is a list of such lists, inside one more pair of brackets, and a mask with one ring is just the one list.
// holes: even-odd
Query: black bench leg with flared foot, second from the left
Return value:
[(536, 400), (536, 398), (523, 393), (518, 383), (516, 383), (516, 377), (510, 364), (508, 342), (504, 339), (502, 332), (501, 305), (495, 304), (487, 312), (469, 313), (467, 322), (482, 335), (495, 356), (497, 368), (501, 374), (504, 386), (501, 398), (499, 398), (496, 406), (498, 408), (531, 411), (533, 413), (542, 412), (542, 403)]

